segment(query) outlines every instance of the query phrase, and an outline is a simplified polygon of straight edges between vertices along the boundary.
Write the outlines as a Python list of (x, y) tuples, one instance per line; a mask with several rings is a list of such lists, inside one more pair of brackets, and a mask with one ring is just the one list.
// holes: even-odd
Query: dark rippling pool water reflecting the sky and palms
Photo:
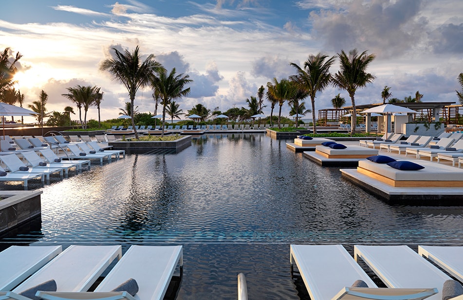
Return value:
[[(210, 134), (42, 188), (41, 228), (12, 244), (183, 245), (178, 300), (307, 299), (290, 244), (463, 245), (462, 207), (392, 206), (264, 134)], [(3, 185), (2, 187), (4, 187)]]

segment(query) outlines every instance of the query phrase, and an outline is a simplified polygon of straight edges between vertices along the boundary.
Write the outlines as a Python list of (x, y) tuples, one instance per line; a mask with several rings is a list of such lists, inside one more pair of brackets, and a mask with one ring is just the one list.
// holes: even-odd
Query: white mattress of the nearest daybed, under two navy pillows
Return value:
[(462, 181), (463, 172), (458, 168), (435, 162), (421, 161), (425, 168), (418, 171), (401, 171), (386, 164), (374, 163), (370, 160), (360, 160), (358, 167), (393, 180), (405, 181)]

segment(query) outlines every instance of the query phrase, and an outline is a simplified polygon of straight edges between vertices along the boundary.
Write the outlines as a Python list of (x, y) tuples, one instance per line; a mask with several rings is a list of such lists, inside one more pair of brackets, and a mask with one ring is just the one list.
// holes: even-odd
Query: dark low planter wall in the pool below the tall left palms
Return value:
[(172, 150), (179, 153), (191, 146), (191, 136), (182, 137), (176, 141), (110, 141), (115, 150), (125, 150), (127, 154), (147, 153), (156, 149)]

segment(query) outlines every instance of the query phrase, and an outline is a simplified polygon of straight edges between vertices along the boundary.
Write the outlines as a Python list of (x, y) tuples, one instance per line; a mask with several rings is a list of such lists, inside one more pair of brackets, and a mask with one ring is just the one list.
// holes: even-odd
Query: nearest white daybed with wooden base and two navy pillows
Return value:
[(425, 160), (389, 163), (360, 160), (357, 172), (393, 187), (463, 187), (462, 170)]

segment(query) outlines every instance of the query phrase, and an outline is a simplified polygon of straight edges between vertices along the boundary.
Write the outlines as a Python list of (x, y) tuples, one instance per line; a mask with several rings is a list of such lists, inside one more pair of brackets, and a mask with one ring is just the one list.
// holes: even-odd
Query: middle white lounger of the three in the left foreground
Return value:
[(43, 266), (13, 292), (20, 293), (37, 284), (55, 280), (57, 291), (87, 291), (116, 258), (122, 256), (121, 246), (70, 246)]

